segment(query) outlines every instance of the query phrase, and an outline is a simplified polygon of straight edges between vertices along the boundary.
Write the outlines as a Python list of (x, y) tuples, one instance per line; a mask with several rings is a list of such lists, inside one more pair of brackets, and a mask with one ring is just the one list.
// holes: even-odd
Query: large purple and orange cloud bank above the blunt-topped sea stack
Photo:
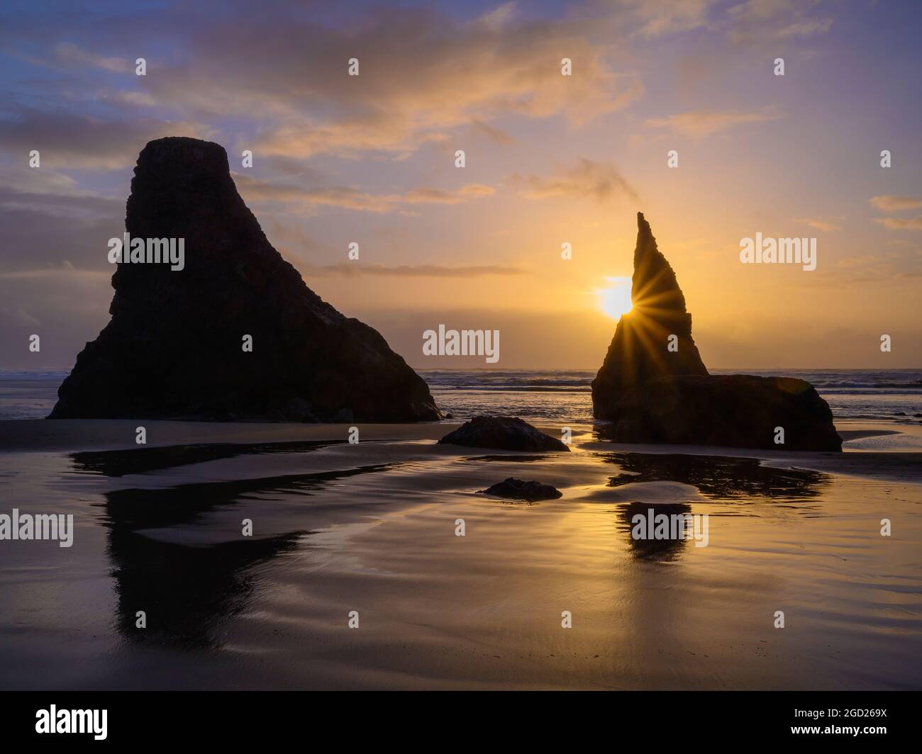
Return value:
[[(145, 30), (146, 77), (134, 76), (139, 53), (127, 32), (137, 28)], [(643, 91), (637, 75), (615, 69), (617, 40), (600, 38), (597, 28), (596, 18), (522, 18), (514, 3), (463, 21), (433, 7), (314, 13), (270, 1), (258, 14), (231, 4), (216, 17), (207, 5), (181, 4), (102, 15), (68, 29), (77, 41), (66, 42), (60, 29), (27, 14), (0, 41), (8, 54), (55, 70), (59, 78), (41, 77), (51, 97), (60, 100), (66, 87), (92, 101), (92, 118), (45, 113), (79, 142), (68, 147), (55, 134), (53, 147), (75, 167), (112, 169), (130, 165), (151, 138), (213, 138), (201, 124), (222, 118), (251, 124), (247, 146), (257, 153), (294, 159), (376, 152), (402, 159), (464, 127), (510, 143), (491, 124), (500, 116), (586, 124)], [(573, 77), (561, 76), (563, 56), (573, 60)], [(348, 75), (352, 57), (358, 77)], [(106, 86), (97, 83), (89, 100), (85, 82), (94, 75)], [(103, 104), (112, 112), (98, 113)], [(159, 122), (136, 117), (155, 106)], [(32, 144), (41, 117), (4, 119), (0, 142)]]

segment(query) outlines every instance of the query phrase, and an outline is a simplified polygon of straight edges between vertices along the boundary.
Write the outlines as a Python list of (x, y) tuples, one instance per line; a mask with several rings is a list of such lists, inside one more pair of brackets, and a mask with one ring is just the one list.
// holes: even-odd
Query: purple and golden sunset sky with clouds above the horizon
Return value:
[[(708, 367), (918, 368), (919, 29), (895, 0), (6, 2), (0, 369), (69, 369), (106, 324), (166, 135), (225, 147), (269, 241), (420, 369), (597, 369), (638, 211)], [(742, 264), (756, 233), (816, 269)], [(439, 324), (499, 361), (425, 356)]]

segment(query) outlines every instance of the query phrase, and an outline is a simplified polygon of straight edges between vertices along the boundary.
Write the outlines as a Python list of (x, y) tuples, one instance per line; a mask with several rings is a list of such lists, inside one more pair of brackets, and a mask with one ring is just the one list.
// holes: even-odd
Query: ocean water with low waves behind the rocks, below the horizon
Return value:
[[(922, 370), (712, 370), (715, 374), (780, 374), (816, 387), (837, 419), (922, 419)], [(591, 421), (585, 370), (426, 370), (436, 403), (454, 418), (506, 414), (554, 421)], [(0, 419), (43, 418), (67, 371), (0, 370)]]

